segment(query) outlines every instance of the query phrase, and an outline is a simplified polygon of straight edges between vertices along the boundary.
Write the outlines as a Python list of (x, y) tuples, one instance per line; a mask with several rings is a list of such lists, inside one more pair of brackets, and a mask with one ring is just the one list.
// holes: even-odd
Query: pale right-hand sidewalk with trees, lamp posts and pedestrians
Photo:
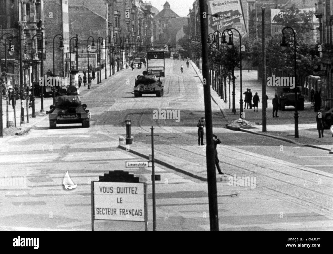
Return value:
[[(195, 72), (199, 76), (199, 79), (202, 82), (202, 74), (199, 72), (199, 69), (192, 64)], [(239, 71), (235, 71), (235, 76), (239, 76)], [(227, 83), (228, 86), (228, 83)], [(239, 112), (239, 100), (240, 100), (240, 90), (239, 90), (239, 77), (237, 77), (235, 81), (235, 108), (236, 114), (231, 112), (229, 109), (229, 91), (227, 89), (227, 103), (224, 103), (223, 100), (220, 99), (218, 94), (211, 88), (211, 98), (215, 104), (218, 105), (222, 114), (225, 118), (231, 122), (233, 120), (237, 120), (240, 118)], [(267, 131), (262, 132), (262, 104), (261, 104), (261, 82), (257, 80), (257, 71), (244, 70), (242, 72), (242, 87), (243, 93), (246, 91), (246, 88), (250, 88), (252, 94), (254, 95), (258, 92), (260, 103), (258, 104), (258, 112), (254, 112), (254, 109), (245, 109), (244, 108), (244, 119), (247, 121), (251, 121), (256, 123), (257, 125), (244, 128), (232, 128), (232, 130), (244, 131), (252, 134), (264, 135), (273, 137), (276, 139), (288, 141), (290, 143), (310, 146), (318, 149), (324, 149), (330, 151), (333, 146), (333, 138), (332, 133), (329, 129), (324, 130), (324, 137), (318, 138), (317, 124), (315, 121), (316, 112), (314, 112), (313, 105), (311, 103), (305, 101), (304, 103), (304, 111), (299, 111), (298, 118), (298, 131), (299, 138), (294, 138), (294, 107), (286, 107), (285, 111), (278, 111), (279, 118), (272, 117), (272, 99), (275, 95), (275, 89), (273, 87), (266, 87), (266, 94), (268, 96), (268, 108), (266, 109), (266, 123), (267, 123)], [(232, 91), (232, 84), (230, 84), (230, 90)], [(243, 95), (244, 100), (244, 95)], [(243, 107), (244, 107), (243, 103)], [(231, 96), (231, 108), (232, 108), (232, 96)], [(228, 126), (227, 126), (228, 127)]]

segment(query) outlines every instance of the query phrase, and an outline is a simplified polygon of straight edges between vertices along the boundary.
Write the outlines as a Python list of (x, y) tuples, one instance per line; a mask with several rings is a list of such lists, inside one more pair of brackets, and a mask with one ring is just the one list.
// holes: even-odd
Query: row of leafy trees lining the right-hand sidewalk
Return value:
[[(273, 18), (273, 21), (282, 27), (289, 26), (295, 30), (297, 74), (301, 76), (312, 75), (314, 66), (320, 66), (319, 53), (322, 50), (321, 45), (311, 43), (313, 40), (309, 38), (309, 36), (313, 36), (312, 20), (312, 11), (301, 12), (295, 6), (283, 7), (280, 13)], [(187, 26), (184, 27), (184, 33), (185, 36), (178, 43), (184, 50), (191, 52), (193, 58), (200, 58), (201, 43), (191, 40)], [(285, 29), (284, 35), (286, 42), (289, 43), (288, 47), (280, 46), (282, 33), (266, 38), (266, 66), (282, 70), (293, 76), (294, 37), (291, 29)], [(227, 34), (226, 40), (228, 40)], [(242, 38), (241, 44), (243, 69), (246, 66), (244, 65), (245, 62), (249, 63), (251, 67), (261, 68), (261, 39), (256, 40), (254, 35), (247, 35)], [(329, 49), (329, 45), (323, 46)], [(231, 71), (236, 67), (239, 68), (239, 50), (239, 41), (235, 42), (231, 47), (226, 44), (220, 44), (219, 48), (217, 48), (216, 43), (210, 42), (208, 44), (208, 53), (211, 70), (217, 70), (218, 66), (220, 66), (222, 74), (230, 77)]]

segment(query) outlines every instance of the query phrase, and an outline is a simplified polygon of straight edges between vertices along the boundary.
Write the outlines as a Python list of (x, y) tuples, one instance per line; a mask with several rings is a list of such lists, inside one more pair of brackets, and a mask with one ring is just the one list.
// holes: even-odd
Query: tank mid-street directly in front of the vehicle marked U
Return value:
[(156, 97), (161, 97), (164, 94), (162, 82), (153, 74), (138, 75), (135, 80), (134, 97), (142, 97), (143, 94), (156, 94)]

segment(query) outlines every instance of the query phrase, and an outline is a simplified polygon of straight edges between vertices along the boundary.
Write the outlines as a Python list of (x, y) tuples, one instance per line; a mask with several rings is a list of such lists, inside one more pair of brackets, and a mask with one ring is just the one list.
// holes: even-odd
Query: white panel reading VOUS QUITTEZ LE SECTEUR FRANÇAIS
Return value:
[(145, 221), (144, 183), (94, 182), (95, 220)]

